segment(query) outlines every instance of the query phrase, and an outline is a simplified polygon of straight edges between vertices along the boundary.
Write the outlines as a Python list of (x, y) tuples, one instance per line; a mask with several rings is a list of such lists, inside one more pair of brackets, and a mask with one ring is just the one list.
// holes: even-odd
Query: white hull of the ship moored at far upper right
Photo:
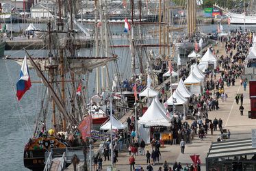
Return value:
[(230, 23), (232, 25), (256, 25), (256, 16), (245, 16), (244, 14), (229, 14)]

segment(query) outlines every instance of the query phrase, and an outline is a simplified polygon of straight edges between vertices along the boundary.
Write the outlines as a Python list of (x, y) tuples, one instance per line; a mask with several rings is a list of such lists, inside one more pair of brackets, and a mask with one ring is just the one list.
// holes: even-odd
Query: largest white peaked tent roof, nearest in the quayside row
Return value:
[(144, 124), (146, 127), (151, 126), (170, 126), (170, 118), (158, 107), (157, 103), (152, 101), (149, 109), (138, 120), (139, 124)]

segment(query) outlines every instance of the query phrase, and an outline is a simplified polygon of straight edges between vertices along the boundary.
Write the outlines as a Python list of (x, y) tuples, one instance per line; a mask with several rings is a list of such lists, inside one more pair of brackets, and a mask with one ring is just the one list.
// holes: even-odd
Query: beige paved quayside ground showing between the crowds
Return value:
[[(224, 50), (220, 49), (220, 53), (223, 53)], [(217, 77), (218, 78), (218, 77)], [(225, 86), (225, 92), (228, 94), (227, 101), (223, 102), (219, 100), (218, 111), (209, 111), (209, 119), (222, 118), (224, 129), (229, 129), (231, 131), (231, 140), (232, 139), (241, 139), (246, 137), (251, 137), (251, 129), (256, 129), (255, 120), (248, 118), (248, 110), (250, 110), (250, 99), (248, 95), (248, 87), (246, 92), (244, 88), (240, 86), (240, 79), (235, 80), (235, 86), (230, 86), (227, 88)], [(235, 95), (237, 93), (244, 94), (244, 116), (240, 116), (240, 103), (237, 105), (235, 103)], [(191, 122), (188, 120), (188, 122)], [(194, 137), (192, 143), (185, 146), (185, 153), (181, 154), (181, 149), (179, 145), (165, 145), (164, 148), (161, 148), (162, 157), (160, 158), (159, 163), (156, 163), (153, 166), (154, 170), (157, 170), (159, 166), (162, 166), (164, 160), (173, 165), (175, 161), (181, 162), (183, 166), (185, 163), (191, 164), (192, 160), (190, 155), (200, 155), (202, 161), (202, 170), (205, 170), (205, 158), (209, 152), (209, 147), (212, 142), (216, 142), (218, 136), (220, 135), (219, 131), (214, 131), (214, 135), (207, 135), (207, 137), (202, 141), (199, 137)], [(151, 153), (151, 147), (146, 146), (146, 149), (149, 149)], [(116, 163), (116, 170), (129, 170), (129, 154), (128, 152), (123, 152), (118, 157), (118, 163)], [(107, 166), (110, 166), (110, 161), (103, 162), (103, 170), (107, 169)], [(136, 166), (142, 166), (144, 169), (147, 166), (145, 156), (136, 157)]]

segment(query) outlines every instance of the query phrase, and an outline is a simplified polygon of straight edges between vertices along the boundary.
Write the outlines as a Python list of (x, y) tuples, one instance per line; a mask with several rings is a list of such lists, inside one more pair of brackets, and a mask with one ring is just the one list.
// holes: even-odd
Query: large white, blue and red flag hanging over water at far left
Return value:
[(21, 66), (20, 79), (18, 79), (18, 82), (16, 83), (16, 87), (17, 87), (16, 96), (18, 98), (18, 101), (20, 101), (23, 94), (25, 94), (25, 92), (27, 92), (27, 90), (29, 90), (29, 88), (31, 87), (29, 70), (27, 67), (27, 56), (24, 57), (24, 60)]

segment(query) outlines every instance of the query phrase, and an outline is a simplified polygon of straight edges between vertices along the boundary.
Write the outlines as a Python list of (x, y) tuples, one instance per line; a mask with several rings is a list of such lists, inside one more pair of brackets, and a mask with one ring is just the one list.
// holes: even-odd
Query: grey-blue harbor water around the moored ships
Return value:
[[(14, 25), (13, 27), (18, 27)], [(225, 31), (228, 30), (227, 25), (223, 25)], [(231, 25), (230, 30), (239, 29), (243, 25)], [(201, 27), (201, 31), (205, 33), (212, 33), (216, 31), (216, 25), (204, 25)], [(246, 29), (256, 29), (256, 26), (246, 26)], [(115, 34), (123, 34), (123, 25), (113, 29)], [(114, 49), (118, 55), (118, 66), (120, 73), (123, 73), (123, 78), (129, 77), (125, 75), (122, 70), (129, 70), (131, 68), (131, 56), (129, 48), (125, 51), (121, 49)], [(155, 49), (157, 50), (157, 49)], [(29, 51), (34, 56), (47, 56), (47, 51)], [(157, 51), (155, 51), (157, 54)], [(5, 55), (12, 55), (23, 57), (24, 51), (5, 51)], [(111, 68), (111, 67), (110, 67)], [(21, 66), (12, 61), (0, 60), (0, 170), (12, 171), (12, 170), (27, 170), (23, 166), (23, 148), (29, 137), (34, 131), (35, 116), (40, 110), (40, 100), (42, 99), (42, 84), (34, 83), (21, 99), (20, 103), (16, 100), (16, 81), (21, 71)], [(114, 73), (114, 68), (111, 71)], [(34, 70), (29, 70), (31, 80), (38, 80)], [(89, 85), (88, 92), (90, 95), (95, 94), (95, 88), (93, 78), (95, 73), (92, 72), (90, 77), (91, 85)]]

